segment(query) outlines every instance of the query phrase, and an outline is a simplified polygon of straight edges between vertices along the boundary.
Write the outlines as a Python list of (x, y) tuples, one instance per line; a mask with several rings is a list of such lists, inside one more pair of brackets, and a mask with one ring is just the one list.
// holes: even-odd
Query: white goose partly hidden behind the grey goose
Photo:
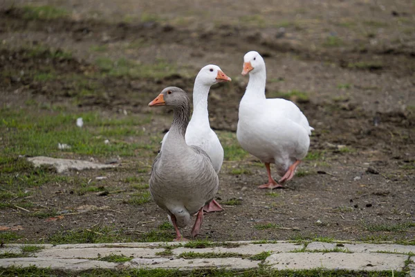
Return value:
[[(193, 114), (186, 129), (185, 139), (187, 145), (196, 145), (208, 153), (212, 166), (219, 173), (223, 163), (223, 148), (215, 132), (210, 128), (208, 114), (208, 95), (212, 84), (217, 82), (230, 82), (231, 79), (223, 73), (219, 66), (208, 64), (196, 76), (193, 87)], [(161, 151), (169, 132), (163, 137)], [(205, 212), (223, 211), (218, 202), (213, 200), (206, 205)]]

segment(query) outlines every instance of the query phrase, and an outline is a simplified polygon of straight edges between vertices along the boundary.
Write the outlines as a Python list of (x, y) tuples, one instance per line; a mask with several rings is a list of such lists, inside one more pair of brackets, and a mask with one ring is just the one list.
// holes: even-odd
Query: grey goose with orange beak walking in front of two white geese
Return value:
[(183, 240), (178, 227), (187, 226), (190, 215), (197, 213), (192, 235), (199, 233), (203, 206), (212, 201), (219, 178), (208, 154), (185, 142), (190, 116), (190, 102), (185, 91), (167, 87), (149, 105), (174, 108), (172, 127), (162, 151), (154, 160), (149, 187), (154, 202), (172, 218), (176, 240)]

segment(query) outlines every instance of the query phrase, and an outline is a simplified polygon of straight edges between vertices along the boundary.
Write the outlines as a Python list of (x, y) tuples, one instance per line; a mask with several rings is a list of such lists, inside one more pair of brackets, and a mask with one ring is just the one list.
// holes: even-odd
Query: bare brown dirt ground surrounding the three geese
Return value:
[[(266, 181), (266, 170), (255, 157), (229, 158), (219, 174), (216, 196), (225, 211), (205, 216), (199, 238), (318, 236), (414, 243), (414, 1), (170, 1), (168, 6), (159, 0), (137, 2), (3, 1), (1, 107), (24, 107), (34, 115), (44, 112), (28, 105), (30, 100), (62, 105), (73, 113), (98, 111), (108, 118), (120, 117), (124, 110), (151, 115), (151, 121), (140, 127), (147, 139), (160, 139), (171, 114), (150, 109), (147, 103), (167, 86), (191, 92), (199, 69), (213, 63), (232, 82), (212, 87), (210, 122), (223, 134), (221, 138), (230, 140), (248, 82), (240, 75), (243, 55), (256, 50), (265, 57), (268, 97), (293, 100), (315, 128), (310, 155), (288, 188), (273, 192), (257, 188)], [(50, 5), (67, 13), (28, 16), (24, 8), (28, 4)], [(46, 48), (44, 53), (28, 53), (28, 48), (39, 45)], [(55, 49), (55, 55), (51, 57), (48, 49)], [(71, 56), (58, 55), (59, 51)], [(50, 69), (58, 76), (100, 73), (102, 67), (95, 62), (100, 57), (142, 64), (163, 60), (174, 64), (174, 69), (160, 76), (95, 74), (88, 78), (99, 84), (101, 93), (86, 96), (62, 78), (44, 81), (26, 74)], [(10, 72), (15, 75), (6, 74)], [(7, 139), (2, 139), (1, 148), (8, 147)], [(125, 180), (147, 181), (157, 150), (144, 156), (140, 150), (135, 153), (121, 157), (116, 170), (64, 176), (105, 176), (96, 181), (100, 186), (131, 193), (131, 184)], [(53, 156), (106, 159), (93, 153)], [(6, 190), (6, 184), (0, 186)], [(28, 209), (70, 213), (56, 213), (53, 216), (64, 216), (48, 220), (6, 206), (0, 209), (0, 226), (18, 229), (20, 242), (48, 242), (59, 231), (91, 229), (97, 224), (111, 226), (130, 240), (145, 240), (143, 235), (160, 231), (167, 217), (154, 202), (131, 205), (123, 201), (125, 197), (124, 193), (73, 193), (71, 182), (49, 182), (33, 190), (30, 201), (35, 206)], [(95, 208), (79, 209), (87, 205)], [(190, 229), (183, 231), (187, 238)], [(174, 231), (164, 232), (165, 239), (171, 240)]]

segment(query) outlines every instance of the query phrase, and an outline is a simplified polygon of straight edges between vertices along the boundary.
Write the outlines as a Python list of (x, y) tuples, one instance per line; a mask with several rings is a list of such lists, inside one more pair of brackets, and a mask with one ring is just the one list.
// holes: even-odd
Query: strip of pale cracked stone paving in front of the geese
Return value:
[[(414, 246), (400, 244), (367, 244), (367, 243), (326, 243), (311, 242), (306, 247), (306, 252), (293, 252), (303, 249), (304, 244), (291, 242), (277, 242), (255, 244), (253, 242), (239, 243), (239, 247), (208, 247), (191, 249), (183, 247), (185, 242), (132, 242), (132, 243), (101, 243), (101, 244), (36, 244), (42, 250), (30, 252), (26, 258), (0, 259), (0, 267), (12, 265), (28, 267), (50, 267), (67, 271), (82, 271), (86, 269), (122, 269), (122, 268), (177, 268), (190, 270), (196, 268), (226, 268), (249, 269), (258, 267), (261, 261), (248, 258), (178, 258), (183, 252), (197, 253), (239, 253), (243, 255), (255, 255), (264, 251), (272, 254), (266, 259), (266, 264), (274, 269), (347, 269), (362, 271), (402, 271), (410, 252), (415, 252)], [(21, 247), (27, 244), (6, 244), (0, 249), (0, 253), (21, 253)], [(33, 245), (33, 244), (32, 244)], [(165, 247), (174, 246), (172, 255), (164, 257), (157, 254), (163, 252)], [(337, 246), (336, 246), (337, 245)], [(335, 247), (347, 249), (353, 253), (318, 251), (333, 250)], [(307, 252), (310, 251), (310, 252)], [(316, 251), (316, 252), (311, 252)], [(378, 253), (388, 251), (391, 253)], [(403, 254), (406, 253), (406, 254)], [(133, 258), (129, 262), (105, 262), (96, 260), (109, 255), (123, 255)], [(409, 264), (412, 275), (415, 277), (415, 257), (411, 257), (413, 264)]]

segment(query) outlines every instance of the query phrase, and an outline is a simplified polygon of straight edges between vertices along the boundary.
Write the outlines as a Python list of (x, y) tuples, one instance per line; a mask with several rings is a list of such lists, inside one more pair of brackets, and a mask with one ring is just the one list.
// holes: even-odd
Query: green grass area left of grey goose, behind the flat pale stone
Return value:
[[(76, 118), (82, 117), (84, 127), (75, 125)], [(31, 114), (25, 109), (11, 111), (0, 109), (0, 131), (3, 134), (3, 155), (15, 157), (50, 156), (59, 152), (73, 152), (94, 156), (118, 154), (132, 156), (136, 150), (140, 154), (153, 156), (156, 143), (147, 145), (124, 142), (124, 136), (140, 136), (134, 132), (136, 126), (148, 123), (149, 116), (125, 116), (124, 118), (102, 118), (98, 113), (66, 114), (65, 112), (44, 112)], [(36, 118), (36, 120), (33, 120)], [(109, 139), (111, 143), (104, 143)], [(69, 150), (59, 150), (58, 143), (71, 145)]]

